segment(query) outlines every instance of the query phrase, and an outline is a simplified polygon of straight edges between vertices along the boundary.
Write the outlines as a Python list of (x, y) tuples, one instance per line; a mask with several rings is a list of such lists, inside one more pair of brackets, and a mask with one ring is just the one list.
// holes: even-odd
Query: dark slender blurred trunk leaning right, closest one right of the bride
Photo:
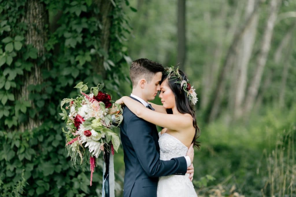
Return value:
[[(261, 3), (261, 1), (259, 1), (259, 2)], [(231, 45), (229, 46), (224, 64), (222, 65), (222, 67), (220, 69), (221, 71), (219, 72), (218, 81), (217, 81), (218, 84), (216, 85), (216, 88), (210, 98), (211, 102), (209, 102), (206, 112), (205, 112), (205, 120), (207, 122), (214, 120), (218, 115), (222, 96), (223, 96), (222, 93), (224, 92), (224, 89), (225, 89), (226, 75), (228, 73), (229, 68), (231, 67), (231, 63), (233, 62), (233, 56), (236, 55), (236, 53), (237, 53), (237, 44), (240, 41), (242, 35), (244, 34), (244, 31), (246, 30), (246, 28), (249, 26), (250, 22), (252, 21), (252, 18), (254, 17), (258, 7), (260, 7), (259, 2), (255, 6), (253, 12), (250, 14), (250, 16), (245, 21), (245, 23), (241, 26), (241, 28), (234, 35), (234, 39), (233, 39)]]

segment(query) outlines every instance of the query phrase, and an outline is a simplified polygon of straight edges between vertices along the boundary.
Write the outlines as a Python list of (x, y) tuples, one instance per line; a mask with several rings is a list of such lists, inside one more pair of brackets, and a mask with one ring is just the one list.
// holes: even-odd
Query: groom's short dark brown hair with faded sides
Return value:
[(157, 72), (163, 72), (163, 65), (153, 62), (149, 59), (136, 59), (131, 63), (130, 78), (133, 87), (136, 87), (140, 77), (144, 77), (149, 83), (153, 75)]

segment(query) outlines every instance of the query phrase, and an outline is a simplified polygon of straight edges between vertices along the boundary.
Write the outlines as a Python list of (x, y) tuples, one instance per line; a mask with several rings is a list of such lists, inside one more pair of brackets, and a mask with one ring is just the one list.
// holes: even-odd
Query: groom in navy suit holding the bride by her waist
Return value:
[[(147, 101), (155, 99), (160, 90), (163, 70), (161, 64), (148, 59), (133, 61), (131, 98), (152, 109)], [(188, 150), (188, 156), (160, 160), (156, 126), (137, 117), (127, 107), (123, 109), (120, 137), (125, 163), (124, 197), (156, 197), (158, 177), (185, 175), (192, 163), (193, 148)]]

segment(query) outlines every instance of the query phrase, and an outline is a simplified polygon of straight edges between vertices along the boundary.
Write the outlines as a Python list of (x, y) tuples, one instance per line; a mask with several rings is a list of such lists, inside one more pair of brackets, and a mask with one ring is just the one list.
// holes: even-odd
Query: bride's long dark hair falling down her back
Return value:
[[(178, 72), (181, 75), (182, 79), (188, 81), (184, 72), (182, 72), (181, 70), (178, 70)], [(196, 141), (197, 138), (199, 138), (200, 136), (200, 128), (197, 126), (194, 106), (191, 104), (191, 102), (189, 101), (189, 98), (186, 96), (186, 92), (183, 89), (181, 89), (181, 85), (180, 83), (178, 83), (180, 79), (172, 77), (172, 74), (170, 75), (170, 78), (168, 78), (168, 74), (163, 73), (161, 83), (165, 79), (168, 79), (168, 86), (170, 87), (170, 89), (173, 91), (175, 95), (176, 107), (178, 112), (180, 112), (181, 114), (190, 114), (192, 116), (193, 126), (195, 128), (195, 135), (192, 140), (192, 143), (193, 143), (193, 146), (200, 149), (200, 142)], [(166, 111), (168, 114), (173, 114), (172, 109), (166, 109)]]

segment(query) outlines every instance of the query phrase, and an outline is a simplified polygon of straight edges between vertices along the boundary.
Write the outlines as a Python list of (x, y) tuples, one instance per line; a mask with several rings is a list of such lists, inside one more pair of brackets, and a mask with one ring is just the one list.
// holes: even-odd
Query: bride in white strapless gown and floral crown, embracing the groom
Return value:
[[(189, 80), (178, 68), (167, 67), (161, 82), (159, 97), (163, 105), (149, 103), (155, 111), (128, 96), (123, 96), (116, 103), (125, 104), (136, 116), (163, 127), (158, 141), (160, 159), (170, 160), (185, 156), (192, 143), (195, 147), (200, 147), (200, 143), (196, 141), (200, 129), (194, 112), (197, 97), (195, 89), (190, 86)], [(165, 196), (196, 197), (189, 174), (160, 177), (157, 197)]]

